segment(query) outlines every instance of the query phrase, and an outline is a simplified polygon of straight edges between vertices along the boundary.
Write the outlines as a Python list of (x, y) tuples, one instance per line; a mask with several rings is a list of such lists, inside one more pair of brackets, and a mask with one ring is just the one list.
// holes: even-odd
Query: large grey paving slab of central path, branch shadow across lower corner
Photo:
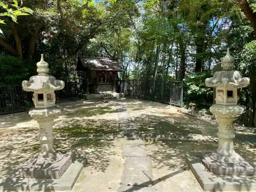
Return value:
[(128, 157), (125, 162), (123, 185), (150, 187), (152, 182), (149, 157)]

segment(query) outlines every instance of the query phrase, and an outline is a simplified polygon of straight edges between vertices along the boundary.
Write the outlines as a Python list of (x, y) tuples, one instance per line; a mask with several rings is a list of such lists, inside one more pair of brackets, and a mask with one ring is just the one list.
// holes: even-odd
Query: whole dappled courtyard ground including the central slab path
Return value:
[[(216, 148), (214, 122), (138, 99), (57, 105), (62, 113), (54, 121), (56, 150), (75, 149), (82, 157), (89, 155), (72, 192), (202, 192), (188, 170), (185, 153)], [(132, 140), (139, 135), (143, 140)], [(38, 153), (37, 137), (38, 125), (28, 114), (0, 117), (0, 180)], [(235, 150), (256, 162), (255, 149), (236, 143)]]

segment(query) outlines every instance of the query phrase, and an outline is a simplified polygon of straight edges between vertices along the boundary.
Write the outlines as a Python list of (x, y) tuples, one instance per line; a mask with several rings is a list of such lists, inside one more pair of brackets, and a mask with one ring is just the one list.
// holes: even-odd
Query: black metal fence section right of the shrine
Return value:
[(117, 92), (125, 96), (183, 107), (182, 81), (119, 80), (117, 84)]

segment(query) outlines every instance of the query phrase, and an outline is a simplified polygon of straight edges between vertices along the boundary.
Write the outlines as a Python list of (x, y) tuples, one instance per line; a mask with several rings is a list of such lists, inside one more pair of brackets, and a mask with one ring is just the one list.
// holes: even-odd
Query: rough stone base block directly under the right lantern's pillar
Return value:
[(237, 153), (230, 157), (208, 153), (202, 156), (202, 161), (204, 166), (215, 175), (253, 176), (256, 173), (255, 166)]

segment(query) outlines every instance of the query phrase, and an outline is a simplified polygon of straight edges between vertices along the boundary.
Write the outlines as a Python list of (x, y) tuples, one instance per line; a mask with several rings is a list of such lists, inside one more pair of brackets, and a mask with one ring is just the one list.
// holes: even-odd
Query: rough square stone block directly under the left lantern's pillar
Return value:
[(48, 158), (36, 155), (19, 167), (18, 172), (22, 178), (59, 179), (75, 158), (75, 151), (68, 154), (57, 153)]

